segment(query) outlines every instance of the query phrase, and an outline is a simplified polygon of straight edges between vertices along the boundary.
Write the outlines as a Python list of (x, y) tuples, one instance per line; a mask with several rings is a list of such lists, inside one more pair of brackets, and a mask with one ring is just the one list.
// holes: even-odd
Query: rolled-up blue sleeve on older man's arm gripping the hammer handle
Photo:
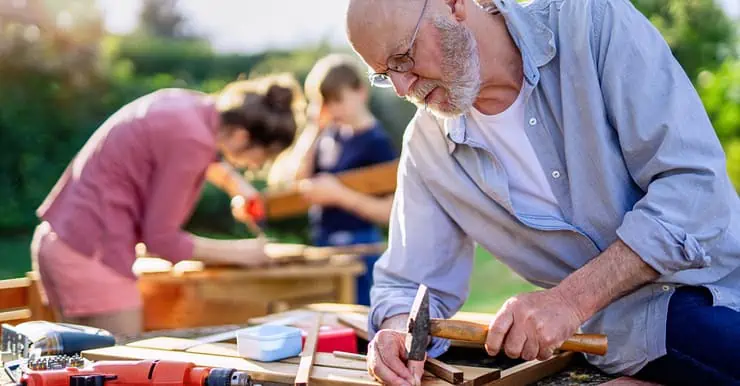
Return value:
[(726, 158), (690, 79), (660, 32), (627, 0), (597, 1), (595, 55), (608, 119), (645, 195), (618, 237), (662, 275), (740, 258), (712, 256), (737, 196)]

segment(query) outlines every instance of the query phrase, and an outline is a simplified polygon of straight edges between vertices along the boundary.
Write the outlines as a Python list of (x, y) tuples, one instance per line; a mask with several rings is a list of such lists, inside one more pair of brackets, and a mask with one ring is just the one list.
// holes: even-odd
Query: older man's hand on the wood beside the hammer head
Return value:
[(406, 334), (396, 330), (380, 330), (367, 350), (367, 370), (386, 385), (420, 385), (424, 374), (423, 361), (409, 361), (404, 340)]

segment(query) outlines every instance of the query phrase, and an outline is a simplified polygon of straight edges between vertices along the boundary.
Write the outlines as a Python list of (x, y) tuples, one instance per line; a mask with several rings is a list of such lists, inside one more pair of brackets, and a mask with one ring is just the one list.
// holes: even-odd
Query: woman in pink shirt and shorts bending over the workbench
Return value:
[(218, 95), (164, 89), (105, 121), (37, 211), (34, 269), (57, 318), (136, 334), (142, 301), (135, 246), (186, 259), (259, 265), (259, 239), (183, 231), (206, 179), (232, 197), (251, 186), (230, 165), (258, 168), (288, 147), (302, 96), (289, 75), (238, 81)]

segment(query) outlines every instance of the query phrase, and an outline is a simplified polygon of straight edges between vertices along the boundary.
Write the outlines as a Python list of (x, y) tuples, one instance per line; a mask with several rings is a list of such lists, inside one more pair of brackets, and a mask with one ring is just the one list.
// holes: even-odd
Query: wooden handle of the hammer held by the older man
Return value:
[[(429, 321), (429, 334), (438, 338), (484, 344), (488, 337), (488, 325), (463, 320), (431, 319)], [(605, 355), (607, 347), (606, 335), (575, 334), (566, 340), (560, 346), (560, 349)]]

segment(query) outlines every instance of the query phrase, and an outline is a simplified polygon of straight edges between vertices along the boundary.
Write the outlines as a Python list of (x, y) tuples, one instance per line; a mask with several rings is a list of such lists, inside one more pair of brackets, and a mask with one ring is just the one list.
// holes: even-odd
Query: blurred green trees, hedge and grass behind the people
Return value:
[[(218, 52), (186, 28), (187, 17), (175, 0), (142, 1), (137, 28), (112, 34), (93, 2), (0, 0), (0, 279), (30, 268), (34, 210), (92, 131), (123, 104), (163, 87), (213, 92), (242, 73), (289, 71), (302, 82), (318, 58), (348, 50), (320, 42), (290, 50)], [(694, 81), (740, 188), (738, 21), (714, 0), (633, 2)], [(378, 90), (371, 108), (400, 145), (415, 108)], [(307, 242), (304, 218), (271, 225), (275, 238)], [(212, 186), (204, 189), (188, 229), (214, 237), (249, 235), (232, 220), (228, 198)], [(474, 311), (495, 310), (511, 294), (533, 288), (482, 250), (472, 283), (465, 309)]]

